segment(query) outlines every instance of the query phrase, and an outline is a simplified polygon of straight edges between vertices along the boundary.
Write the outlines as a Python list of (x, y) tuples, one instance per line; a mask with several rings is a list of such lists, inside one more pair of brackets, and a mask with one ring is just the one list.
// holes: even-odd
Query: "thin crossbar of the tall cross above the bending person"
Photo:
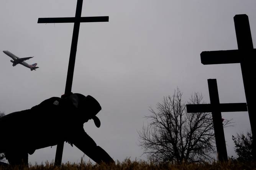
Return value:
[[(108, 16), (88, 16), (78, 18), (79, 22), (108, 22)], [(75, 17), (63, 18), (38, 18), (37, 23), (74, 23), (77, 21)]]

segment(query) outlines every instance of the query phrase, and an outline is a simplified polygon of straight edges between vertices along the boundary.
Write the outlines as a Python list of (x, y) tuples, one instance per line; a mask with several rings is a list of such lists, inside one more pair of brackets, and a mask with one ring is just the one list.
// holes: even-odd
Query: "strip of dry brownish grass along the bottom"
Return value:
[(79, 164), (62, 164), (61, 167), (55, 167), (53, 164), (46, 163), (45, 165), (33, 166), (16, 166), (3, 167), (0, 170), (256, 170), (256, 162), (215, 162), (212, 164), (161, 164), (154, 165), (143, 161), (117, 162), (115, 165), (94, 165), (92, 163), (85, 163), (81, 161)]

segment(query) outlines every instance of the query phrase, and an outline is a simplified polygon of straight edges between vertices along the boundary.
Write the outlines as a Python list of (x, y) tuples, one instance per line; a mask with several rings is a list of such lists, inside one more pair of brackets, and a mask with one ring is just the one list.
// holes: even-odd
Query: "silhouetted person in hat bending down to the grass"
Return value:
[(28, 154), (36, 149), (67, 141), (98, 164), (114, 160), (84, 131), (83, 124), (93, 119), (101, 106), (92, 96), (74, 93), (66, 98), (52, 97), (31, 109), (13, 112), (0, 118), (0, 153), (9, 164), (28, 164)]

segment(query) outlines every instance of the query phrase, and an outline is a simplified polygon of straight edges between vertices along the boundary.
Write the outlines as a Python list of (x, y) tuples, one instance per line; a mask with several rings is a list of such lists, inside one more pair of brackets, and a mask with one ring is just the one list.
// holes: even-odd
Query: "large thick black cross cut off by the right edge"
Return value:
[[(253, 141), (256, 141), (256, 49), (253, 48), (248, 16), (246, 14), (235, 15), (234, 22), (238, 50), (203, 51), (201, 63), (240, 63), (251, 132)], [(256, 158), (256, 142), (253, 142), (253, 156)]]

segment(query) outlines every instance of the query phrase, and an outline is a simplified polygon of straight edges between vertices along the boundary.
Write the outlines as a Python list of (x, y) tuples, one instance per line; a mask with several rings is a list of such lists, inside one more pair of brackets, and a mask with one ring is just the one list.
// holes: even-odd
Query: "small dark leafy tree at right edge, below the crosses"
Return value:
[(253, 161), (253, 136), (251, 132), (247, 132), (246, 135), (243, 133), (236, 134), (236, 137), (232, 135), (232, 140), (235, 143), (235, 152), (238, 155), (236, 160)]

